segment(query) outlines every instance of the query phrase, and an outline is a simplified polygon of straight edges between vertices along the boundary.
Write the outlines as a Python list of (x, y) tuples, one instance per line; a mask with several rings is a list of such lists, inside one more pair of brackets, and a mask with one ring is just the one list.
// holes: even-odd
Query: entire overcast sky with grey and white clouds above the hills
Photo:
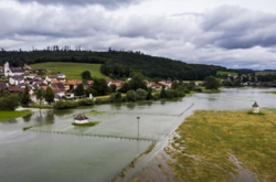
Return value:
[(0, 0), (0, 47), (112, 47), (276, 69), (275, 7), (275, 0)]

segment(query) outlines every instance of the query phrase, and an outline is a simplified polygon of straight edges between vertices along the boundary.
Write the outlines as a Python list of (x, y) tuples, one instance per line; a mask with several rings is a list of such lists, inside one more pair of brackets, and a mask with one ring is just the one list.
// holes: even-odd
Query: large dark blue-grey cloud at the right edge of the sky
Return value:
[(250, 49), (276, 45), (276, 15), (238, 7), (220, 7), (202, 17), (202, 35), (194, 38), (201, 46)]

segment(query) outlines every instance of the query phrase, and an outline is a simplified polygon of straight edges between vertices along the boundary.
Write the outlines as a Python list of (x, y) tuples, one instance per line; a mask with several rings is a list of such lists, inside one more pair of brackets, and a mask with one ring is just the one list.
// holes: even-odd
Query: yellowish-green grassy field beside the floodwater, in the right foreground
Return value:
[(261, 181), (275, 181), (276, 109), (262, 110), (265, 115), (200, 110), (187, 118), (171, 148), (164, 148), (176, 180), (232, 181), (230, 173), (238, 173), (230, 161), (234, 156)]

